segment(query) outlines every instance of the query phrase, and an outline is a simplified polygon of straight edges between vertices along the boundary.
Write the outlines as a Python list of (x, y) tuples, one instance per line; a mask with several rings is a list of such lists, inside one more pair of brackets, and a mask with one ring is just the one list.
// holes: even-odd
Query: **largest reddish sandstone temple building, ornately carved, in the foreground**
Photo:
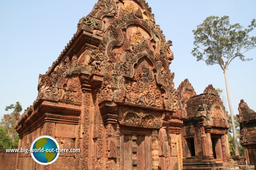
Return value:
[(182, 156), (169, 129), (180, 134), (188, 105), (174, 89), (170, 46), (144, 0), (99, 0), (39, 76), (38, 97), (17, 121), (24, 147), (28, 129), (44, 126), (43, 134), (81, 149), (49, 169), (63, 161), (79, 170), (172, 169)]

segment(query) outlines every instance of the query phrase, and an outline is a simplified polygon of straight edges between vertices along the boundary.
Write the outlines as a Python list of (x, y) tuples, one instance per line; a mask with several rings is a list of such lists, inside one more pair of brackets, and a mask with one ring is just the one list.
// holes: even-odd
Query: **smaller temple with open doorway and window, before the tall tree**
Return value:
[(216, 90), (209, 85), (204, 93), (196, 95), (185, 79), (177, 91), (180, 105), (186, 108), (183, 114), (187, 115), (181, 128), (183, 168), (234, 168), (237, 163), (230, 158), (227, 135), (229, 117)]

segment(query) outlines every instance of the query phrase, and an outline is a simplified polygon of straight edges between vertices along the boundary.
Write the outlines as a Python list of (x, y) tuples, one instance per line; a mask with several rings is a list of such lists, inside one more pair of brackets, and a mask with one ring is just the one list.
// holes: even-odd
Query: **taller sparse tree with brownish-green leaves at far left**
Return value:
[[(6, 106), (5, 110), (12, 110), (12, 113), (5, 114), (1, 119), (0, 125), (1, 128), (4, 128), (6, 135), (11, 139), (10, 148), (15, 148), (16, 146), (18, 146), (19, 136), (14, 127), (16, 120), (20, 118), (20, 112), (22, 111), (22, 107), (20, 105), (20, 102), (17, 101), (15, 105), (11, 104), (10, 106)], [(0, 140), (2, 140), (2, 136), (0, 136), (0, 138)], [(6, 139), (3, 140), (6, 141)]]

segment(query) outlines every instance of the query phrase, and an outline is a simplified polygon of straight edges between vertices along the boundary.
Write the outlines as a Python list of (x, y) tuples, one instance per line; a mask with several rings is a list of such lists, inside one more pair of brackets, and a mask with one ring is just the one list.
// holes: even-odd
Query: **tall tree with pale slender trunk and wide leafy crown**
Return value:
[(248, 35), (255, 27), (255, 19), (252, 20), (248, 28), (244, 28), (240, 24), (231, 25), (228, 16), (221, 18), (210, 16), (202, 24), (198, 25), (196, 30), (193, 30), (195, 48), (191, 52), (192, 55), (197, 58), (197, 61), (203, 60), (207, 65), (220, 65), (224, 72), (236, 155), (238, 155), (238, 144), (228, 89), (227, 69), (235, 58), (239, 58), (242, 61), (252, 60), (252, 58), (245, 58), (244, 53), (256, 47), (256, 37)]

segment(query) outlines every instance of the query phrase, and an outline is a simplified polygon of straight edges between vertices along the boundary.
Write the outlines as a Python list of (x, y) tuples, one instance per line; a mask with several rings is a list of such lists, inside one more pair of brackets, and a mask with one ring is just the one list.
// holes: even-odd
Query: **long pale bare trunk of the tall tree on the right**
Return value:
[(231, 100), (230, 100), (230, 94), (229, 94), (229, 89), (228, 89), (228, 77), (227, 77), (226, 70), (224, 70), (224, 76), (225, 76), (226, 90), (227, 90), (227, 96), (228, 96), (228, 105), (229, 105), (229, 110), (230, 110), (230, 115), (231, 115), (231, 124), (232, 124), (232, 129), (233, 129), (233, 136), (234, 136), (235, 154), (239, 155), (237, 137), (236, 137), (236, 124), (234, 121), (234, 114), (233, 114), (233, 109), (232, 109)]

